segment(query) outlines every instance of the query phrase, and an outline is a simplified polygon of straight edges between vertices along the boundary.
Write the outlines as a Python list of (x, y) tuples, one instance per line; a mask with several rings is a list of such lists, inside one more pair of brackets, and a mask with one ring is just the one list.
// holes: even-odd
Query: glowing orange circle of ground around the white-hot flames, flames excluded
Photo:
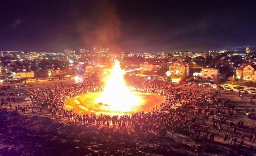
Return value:
[[(80, 96), (76, 96), (75, 98), (70, 98), (66, 101), (66, 108), (68, 109), (74, 109), (74, 111), (78, 114), (96, 114), (97, 116), (100, 116), (101, 114), (106, 115), (124, 115), (136, 112), (151, 112), (153, 108), (155, 108), (155, 104), (158, 105), (165, 101), (165, 98), (163, 96), (160, 96), (158, 94), (150, 94), (150, 93), (139, 93), (139, 92), (133, 92), (136, 96), (140, 97), (139, 104), (132, 105), (129, 111), (122, 112), (113, 109), (111, 105), (108, 104), (101, 104), (96, 102), (96, 100), (102, 96), (102, 92), (93, 92), (89, 94), (83, 94)], [(120, 107), (122, 106), (122, 103), (120, 103)]]

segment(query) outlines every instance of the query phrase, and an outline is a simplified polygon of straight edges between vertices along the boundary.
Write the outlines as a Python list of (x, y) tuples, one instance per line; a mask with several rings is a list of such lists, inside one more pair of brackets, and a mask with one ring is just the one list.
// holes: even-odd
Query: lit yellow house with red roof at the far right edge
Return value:
[(236, 70), (236, 77), (238, 80), (256, 81), (256, 64), (252, 62), (242, 64)]

